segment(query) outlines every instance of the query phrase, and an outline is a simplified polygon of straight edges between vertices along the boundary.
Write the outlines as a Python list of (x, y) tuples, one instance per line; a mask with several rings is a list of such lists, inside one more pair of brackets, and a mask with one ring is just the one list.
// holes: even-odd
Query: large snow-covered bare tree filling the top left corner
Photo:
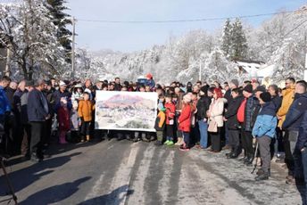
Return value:
[(11, 72), (21, 71), (22, 78), (61, 75), (67, 66), (57, 27), (39, 0), (19, 4), (0, 4), (0, 20), (9, 29), (1, 29), (1, 38), (12, 52)]

